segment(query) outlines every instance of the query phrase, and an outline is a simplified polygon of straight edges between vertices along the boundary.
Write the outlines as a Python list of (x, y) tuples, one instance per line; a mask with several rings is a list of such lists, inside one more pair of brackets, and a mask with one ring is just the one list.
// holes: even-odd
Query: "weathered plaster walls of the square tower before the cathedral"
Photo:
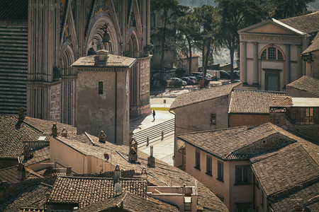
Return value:
[[(78, 72), (78, 134), (86, 131), (99, 136), (103, 130), (107, 141), (128, 145), (129, 101), (125, 80), (125, 71)], [(103, 82), (103, 94), (99, 94), (99, 82)]]

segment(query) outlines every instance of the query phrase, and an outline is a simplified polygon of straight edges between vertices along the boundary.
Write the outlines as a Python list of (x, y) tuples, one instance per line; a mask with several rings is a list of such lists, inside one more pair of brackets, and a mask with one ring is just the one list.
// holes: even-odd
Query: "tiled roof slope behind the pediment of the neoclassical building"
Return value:
[(319, 31), (319, 11), (304, 16), (296, 16), (279, 20), (303, 33), (316, 33)]

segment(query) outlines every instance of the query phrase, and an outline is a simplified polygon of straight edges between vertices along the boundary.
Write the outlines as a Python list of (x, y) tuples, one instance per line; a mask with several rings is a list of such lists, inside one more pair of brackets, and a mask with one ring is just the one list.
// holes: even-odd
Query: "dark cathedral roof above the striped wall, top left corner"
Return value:
[(1, 0), (0, 20), (28, 20), (28, 0)]

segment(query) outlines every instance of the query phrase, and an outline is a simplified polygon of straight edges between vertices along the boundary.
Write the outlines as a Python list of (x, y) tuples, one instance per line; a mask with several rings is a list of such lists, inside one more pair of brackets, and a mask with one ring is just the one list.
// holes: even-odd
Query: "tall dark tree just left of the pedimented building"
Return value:
[(218, 10), (222, 16), (223, 30), (220, 42), (223, 42), (230, 51), (231, 81), (234, 82), (234, 55), (239, 48), (239, 35), (237, 30), (258, 23), (267, 17), (261, 1), (256, 0), (216, 0)]

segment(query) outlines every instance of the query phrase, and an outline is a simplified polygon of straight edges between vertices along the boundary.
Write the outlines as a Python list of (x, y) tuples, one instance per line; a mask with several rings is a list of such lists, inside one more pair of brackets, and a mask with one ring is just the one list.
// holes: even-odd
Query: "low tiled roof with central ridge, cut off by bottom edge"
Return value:
[(77, 212), (99, 212), (116, 207), (120, 208), (122, 201), (123, 209), (125, 211), (179, 211), (177, 207), (166, 204), (163, 201), (159, 201), (151, 197), (147, 197), (147, 199), (144, 199), (140, 196), (123, 192), (123, 194), (111, 199), (106, 199), (96, 204), (91, 204), (84, 208), (80, 208)]

